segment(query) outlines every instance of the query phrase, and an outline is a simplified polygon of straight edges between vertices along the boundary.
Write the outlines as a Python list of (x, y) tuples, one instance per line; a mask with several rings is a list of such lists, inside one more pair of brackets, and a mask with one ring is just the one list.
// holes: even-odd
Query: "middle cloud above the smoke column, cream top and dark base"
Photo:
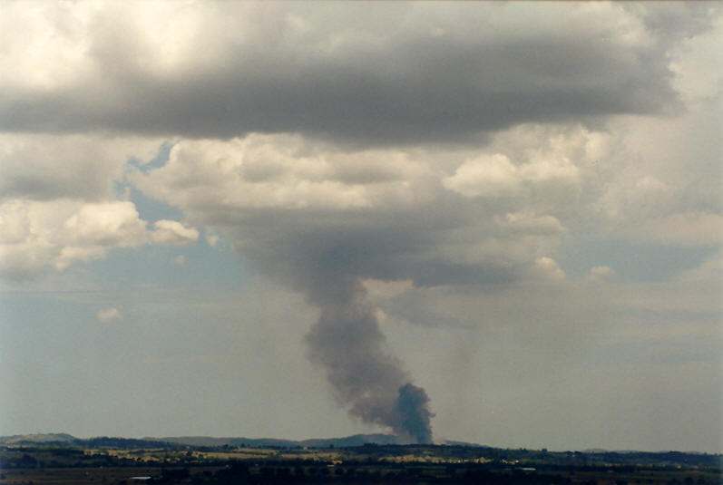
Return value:
[[(129, 179), (148, 196), (181, 208), (191, 224), (227, 231), (239, 253), (264, 271), (343, 264), (364, 278), (411, 278), (422, 285), (517, 277), (555, 247), (565, 226), (553, 214), (569, 206), (563, 199), (542, 208), (551, 213), (539, 213), (544, 194), (532, 189), (514, 199), (469, 204), (445, 188), (440, 170), (458, 166), (460, 157), (464, 153), (441, 149), (309, 149), (298, 137), (249, 135), (182, 141), (164, 166)], [(382, 161), (393, 169), (369, 175), (378, 174)], [(264, 163), (273, 172), (248, 177), (249, 166)], [(350, 178), (351, 172), (357, 175)], [(541, 190), (574, 192), (582, 179), (553, 176)]]

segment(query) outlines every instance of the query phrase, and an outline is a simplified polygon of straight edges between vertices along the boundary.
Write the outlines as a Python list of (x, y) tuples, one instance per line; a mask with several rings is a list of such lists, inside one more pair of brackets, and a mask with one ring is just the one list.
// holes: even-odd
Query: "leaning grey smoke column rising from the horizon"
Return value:
[(326, 276), (309, 295), (321, 308), (306, 338), (311, 360), (324, 366), (350, 414), (391, 428), (402, 441), (431, 442), (429, 398), (386, 352), (386, 338), (374, 308), (364, 301), (364, 287), (353, 276)]

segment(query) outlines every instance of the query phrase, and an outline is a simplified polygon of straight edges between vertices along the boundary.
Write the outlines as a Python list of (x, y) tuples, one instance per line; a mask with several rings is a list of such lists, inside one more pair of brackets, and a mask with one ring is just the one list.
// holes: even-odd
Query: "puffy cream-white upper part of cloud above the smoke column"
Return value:
[(308, 153), (299, 137), (252, 134), (181, 141), (151, 178), (136, 172), (132, 180), (181, 206), (205, 199), (210, 207), (343, 210), (405, 201), (404, 176), (423, 171), (398, 150)]

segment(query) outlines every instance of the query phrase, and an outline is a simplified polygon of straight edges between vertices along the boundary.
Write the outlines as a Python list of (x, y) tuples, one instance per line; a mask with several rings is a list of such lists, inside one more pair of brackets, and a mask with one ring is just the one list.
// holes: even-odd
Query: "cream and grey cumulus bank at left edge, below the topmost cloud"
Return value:
[(44, 133), (0, 134), (0, 273), (14, 278), (63, 271), (113, 247), (188, 244), (195, 229), (139, 217), (118, 200), (129, 160), (145, 164), (153, 138)]

